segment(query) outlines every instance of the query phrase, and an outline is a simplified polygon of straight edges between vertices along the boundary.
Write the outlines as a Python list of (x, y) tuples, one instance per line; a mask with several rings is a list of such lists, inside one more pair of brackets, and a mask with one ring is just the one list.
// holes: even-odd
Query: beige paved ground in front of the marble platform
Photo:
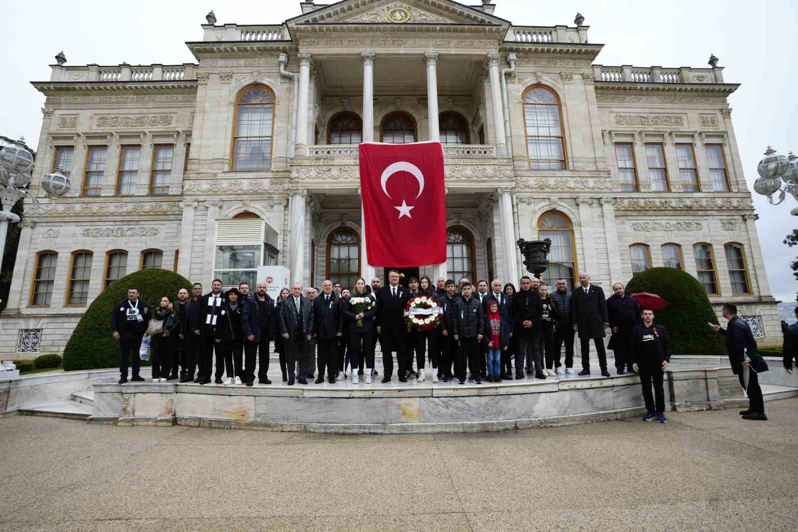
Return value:
[(796, 530), (798, 399), (473, 435), (0, 419), (13, 530)]

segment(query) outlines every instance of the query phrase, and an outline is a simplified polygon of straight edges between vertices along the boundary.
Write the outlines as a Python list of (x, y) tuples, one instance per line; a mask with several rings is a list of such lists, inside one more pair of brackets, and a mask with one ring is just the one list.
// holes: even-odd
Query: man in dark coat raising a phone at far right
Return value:
[[(748, 324), (740, 316), (737, 316), (737, 305), (723, 305), (723, 317), (729, 320), (726, 328), (722, 329), (718, 325), (713, 325), (712, 328), (713, 331), (726, 337), (726, 355), (729, 355), (732, 371), (739, 377), (744, 388), (743, 367), (750, 368), (749, 387), (745, 390), (749, 396), (749, 408), (741, 411), (740, 414), (743, 419), (767, 421), (768, 416), (764, 415), (764, 399), (762, 399), (762, 388), (759, 386), (757, 372), (768, 371), (768, 364), (759, 354), (757, 340), (753, 339), (753, 333)], [(749, 360), (745, 359), (745, 355), (748, 355)]]

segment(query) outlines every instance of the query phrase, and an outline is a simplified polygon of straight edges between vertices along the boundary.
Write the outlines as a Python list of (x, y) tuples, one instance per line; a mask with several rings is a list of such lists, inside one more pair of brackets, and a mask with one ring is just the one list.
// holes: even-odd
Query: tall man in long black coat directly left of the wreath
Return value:
[(397, 354), (399, 380), (407, 382), (407, 325), (405, 305), (410, 298), (407, 288), (399, 286), (399, 272), (388, 272), (388, 286), (377, 292), (377, 334), (382, 346), (382, 365), (385, 367), (383, 383), (393, 375), (393, 353)]

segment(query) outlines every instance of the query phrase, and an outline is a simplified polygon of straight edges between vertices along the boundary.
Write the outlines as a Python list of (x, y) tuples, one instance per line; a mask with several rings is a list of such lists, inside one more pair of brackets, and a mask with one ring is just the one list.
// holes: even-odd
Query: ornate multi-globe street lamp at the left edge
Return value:
[(19, 146), (8, 146), (0, 150), (0, 200), (2, 200), (2, 211), (0, 211), (0, 260), (6, 252), (6, 233), (10, 221), (17, 223), (19, 216), (11, 212), (11, 208), (22, 197), (30, 196), (34, 204), (41, 210), (49, 211), (55, 207), (55, 198), (63, 196), (69, 192), (71, 185), (69, 177), (63, 174), (63, 169), (57, 168), (55, 172), (47, 174), (41, 180), (41, 188), (45, 190), (53, 200), (42, 204), (26, 187), (30, 183), (30, 170), (34, 168), (34, 156)]

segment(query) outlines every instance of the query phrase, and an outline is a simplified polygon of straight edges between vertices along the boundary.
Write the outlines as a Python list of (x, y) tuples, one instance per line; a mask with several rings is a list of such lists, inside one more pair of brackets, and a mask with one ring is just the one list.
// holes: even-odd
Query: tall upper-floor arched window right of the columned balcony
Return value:
[(523, 121), (527, 129), (529, 168), (565, 169), (563, 117), (557, 95), (540, 85), (527, 89), (523, 93)]

